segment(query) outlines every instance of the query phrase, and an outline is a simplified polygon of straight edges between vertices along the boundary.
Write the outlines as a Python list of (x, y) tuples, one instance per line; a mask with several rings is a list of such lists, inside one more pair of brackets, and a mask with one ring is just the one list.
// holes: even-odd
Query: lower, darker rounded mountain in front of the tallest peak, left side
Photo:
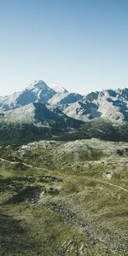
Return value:
[(19, 122), (19, 123), (32, 123), (34, 125), (43, 125), (49, 128), (53, 126), (60, 129), (67, 129), (71, 127), (79, 127), (81, 121), (67, 117), (67, 115), (59, 108), (53, 106), (46, 106), (44, 103), (34, 102), (15, 108), (13, 110), (4, 111), (0, 114), (1, 121), (4, 122)]

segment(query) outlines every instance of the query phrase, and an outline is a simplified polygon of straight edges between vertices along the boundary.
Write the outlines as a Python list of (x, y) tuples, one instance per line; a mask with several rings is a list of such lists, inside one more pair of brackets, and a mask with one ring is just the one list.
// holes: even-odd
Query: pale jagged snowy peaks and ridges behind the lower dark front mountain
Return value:
[(0, 112), (22, 106), (26, 106), (25, 109), (30, 109), (27, 105), (40, 102), (44, 103), (52, 113), (57, 113), (63, 117), (65, 115), (84, 122), (100, 117), (117, 125), (128, 121), (127, 88), (124, 90), (96, 91), (87, 96), (81, 96), (76, 93), (69, 93), (60, 85), (54, 84), (51, 87), (45, 84), (44, 81), (39, 80), (30, 84), (22, 92), (0, 97)]

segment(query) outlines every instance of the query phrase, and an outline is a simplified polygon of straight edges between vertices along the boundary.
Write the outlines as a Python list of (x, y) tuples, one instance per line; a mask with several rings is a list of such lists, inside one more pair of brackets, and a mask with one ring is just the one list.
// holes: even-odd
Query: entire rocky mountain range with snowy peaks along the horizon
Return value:
[(82, 96), (60, 85), (48, 86), (38, 80), (23, 91), (0, 97), (2, 120), (41, 124), (47, 123), (49, 115), (55, 121), (70, 118), (88, 122), (102, 118), (121, 125), (128, 121), (128, 89), (102, 90)]

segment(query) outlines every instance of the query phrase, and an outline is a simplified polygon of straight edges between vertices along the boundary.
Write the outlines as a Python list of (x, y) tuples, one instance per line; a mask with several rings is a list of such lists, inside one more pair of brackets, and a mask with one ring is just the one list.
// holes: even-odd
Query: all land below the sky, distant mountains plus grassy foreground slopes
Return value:
[(128, 89), (0, 97), (0, 255), (128, 255)]

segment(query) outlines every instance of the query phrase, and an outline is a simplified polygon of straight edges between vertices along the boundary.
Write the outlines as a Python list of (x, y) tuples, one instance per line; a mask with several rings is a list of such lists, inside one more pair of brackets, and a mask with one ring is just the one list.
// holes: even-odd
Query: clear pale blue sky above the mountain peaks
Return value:
[(128, 86), (128, 0), (0, 0), (0, 96)]

